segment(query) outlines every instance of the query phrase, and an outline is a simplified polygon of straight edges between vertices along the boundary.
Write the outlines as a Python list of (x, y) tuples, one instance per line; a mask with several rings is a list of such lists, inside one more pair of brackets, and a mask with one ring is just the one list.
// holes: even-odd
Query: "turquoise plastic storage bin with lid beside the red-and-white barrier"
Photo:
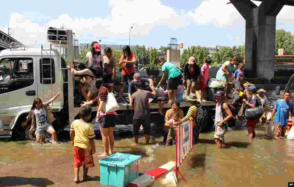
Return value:
[(99, 160), (100, 183), (110, 186), (125, 187), (138, 178), (141, 156), (115, 153)]

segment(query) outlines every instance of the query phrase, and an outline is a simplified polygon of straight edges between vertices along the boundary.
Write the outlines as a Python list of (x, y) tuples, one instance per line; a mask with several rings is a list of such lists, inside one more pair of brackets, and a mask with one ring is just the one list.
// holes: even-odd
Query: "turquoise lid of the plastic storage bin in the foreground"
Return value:
[(103, 158), (99, 160), (99, 164), (109, 164), (115, 165), (118, 167), (126, 167), (130, 163), (134, 161), (138, 161), (142, 156), (139, 155), (131, 155), (131, 154), (124, 154), (124, 153), (115, 153), (107, 158)]

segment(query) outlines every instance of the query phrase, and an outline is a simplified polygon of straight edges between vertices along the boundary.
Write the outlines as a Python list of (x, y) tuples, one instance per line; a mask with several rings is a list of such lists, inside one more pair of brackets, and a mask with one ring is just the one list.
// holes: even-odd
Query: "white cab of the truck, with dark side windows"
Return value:
[(37, 97), (48, 101), (60, 90), (51, 110), (63, 109), (65, 75), (61, 67), (65, 66), (54, 49), (20, 47), (0, 52), (0, 137), (11, 137), (21, 128)]

